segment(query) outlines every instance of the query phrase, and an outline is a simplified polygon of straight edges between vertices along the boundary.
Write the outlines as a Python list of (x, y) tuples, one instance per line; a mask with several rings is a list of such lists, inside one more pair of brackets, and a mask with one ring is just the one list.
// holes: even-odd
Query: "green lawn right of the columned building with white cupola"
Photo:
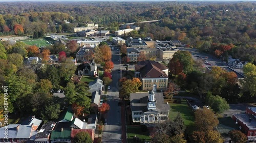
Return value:
[(186, 100), (181, 100), (181, 103), (172, 103), (172, 101), (165, 100), (170, 105), (169, 119), (173, 120), (180, 112), (180, 115), (186, 126), (194, 124), (194, 112), (188, 107)]

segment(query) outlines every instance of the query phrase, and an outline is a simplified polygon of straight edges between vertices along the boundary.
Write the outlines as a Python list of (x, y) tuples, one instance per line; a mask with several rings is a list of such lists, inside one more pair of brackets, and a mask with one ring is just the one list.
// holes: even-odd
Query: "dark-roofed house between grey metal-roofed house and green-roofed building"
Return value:
[(47, 121), (37, 132), (34, 143), (49, 143), (50, 134), (55, 127), (55, 121)]

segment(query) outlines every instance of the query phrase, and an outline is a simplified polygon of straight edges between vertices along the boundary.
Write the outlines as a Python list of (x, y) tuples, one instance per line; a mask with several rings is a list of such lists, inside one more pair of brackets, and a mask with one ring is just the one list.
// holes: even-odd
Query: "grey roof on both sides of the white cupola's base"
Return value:
[[(132, 111), (147, 111), (149, 93), (131, 93), (130, 102)], [(170, 106), (164, 103), (163, 94), (155, 93), (156, 111), (168, 111)]]

